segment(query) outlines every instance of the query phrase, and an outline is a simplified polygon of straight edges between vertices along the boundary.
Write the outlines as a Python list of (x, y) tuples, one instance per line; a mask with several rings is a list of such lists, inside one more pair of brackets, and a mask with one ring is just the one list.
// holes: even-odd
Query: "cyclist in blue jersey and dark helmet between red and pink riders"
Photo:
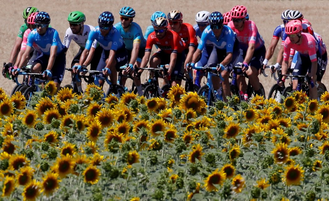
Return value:
[[(214, 48), (210, 54), (208, 64), (219, 64), (217, 71), (221, 72), (221, 75), (224, 78), (223, 98), (226, 100), (226, 96), (230, 96), (231, 94), (229, 74), (235, 63), (243, 62), (243, 58), (242, 50), (239, 48), (239, 41), (236, 39), (235, 33), (230, 27), (223, 25), (223, 22), (224, 17), (220, 12), (213, 12), (210, 14), (210, 26), (207, 26), (205, 31), (203, 31), (198, 49), (193, 54), (192, 62), (188, 65), (191, 67), (195, 65), (195, 61), (200, 57), (201, 51), (204, 49), (206, 42), (210, 41)], [(220, 98), (220, 95), (222, 94), (220, 80), (218, 77), (213, 77), (212, 79), (214, 89), (217, 91), (217, 98)]]

